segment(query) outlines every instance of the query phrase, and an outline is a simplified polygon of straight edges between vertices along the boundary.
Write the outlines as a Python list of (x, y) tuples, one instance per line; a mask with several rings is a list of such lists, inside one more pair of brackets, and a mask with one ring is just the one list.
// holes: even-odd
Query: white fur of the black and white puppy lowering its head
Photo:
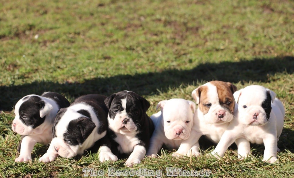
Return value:
[[(96, 127), (93, 129), (91, 134), (88, 136), (88, 138), (86, 138), (82, 145), (72, 146), (64, 141), (63, 134), (66, 132), (67, 126), (70, 121), (78, 119), (79, 117), (83, 116), (82, 114), (77, 112), (80, 109), (85, 109), (90, 113), (92, 121), (94, 122)], [(71, 105), (67, 108), (66, 112), (61, 117), (58, 124), (55, 126), (56, 137), (52, 139), (50, 146), (47, 150), (47, 153), (45, 153), (39, 160), (41, 162), (51, 162), (58, 155), (64, 158), (73, 158), (76, 155), (82, 155), (86, 149), (93, 146), (93, 144), (97, 140), (103, 138), (106, 135), (106, 131), (104, 131), (100, 135), (98, 134), (97, 129), (99, 127), (100, 123), (98, 121), (98, 118), (90, 105), (87, 105), (86, 103), (77, 103), (75, 105)], [(57, 149), (58, 152), (56, 152), (55, 149)]]

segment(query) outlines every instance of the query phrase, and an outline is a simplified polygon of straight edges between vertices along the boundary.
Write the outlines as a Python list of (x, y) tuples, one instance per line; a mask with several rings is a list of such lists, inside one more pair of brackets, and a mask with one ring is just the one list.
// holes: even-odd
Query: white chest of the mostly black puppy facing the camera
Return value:
[(140, 143), (140, 140), (135, 135), (136, 134), (132, 134), (132, 135), (117, 134), (116, 135), (116, 138), (114, 140), (119, 144), (118, 151), (120, 153), (133, 152), (134, 146)]

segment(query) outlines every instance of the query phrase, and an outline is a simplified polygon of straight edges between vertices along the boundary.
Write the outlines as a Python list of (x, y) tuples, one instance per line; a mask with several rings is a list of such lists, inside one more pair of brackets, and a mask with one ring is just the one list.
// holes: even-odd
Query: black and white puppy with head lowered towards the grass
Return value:
[(104, 104), (105, 98), (103, 95), (84, 95), (69, 107), (60, 109), (52, 128), (54, 138), (39, 161), (51, 162), (58, 155), (64, 158), (82, 155), (96, 141), (104, 142), (98, 151), (99, 160), (116, 161), (117, 157), (111, 153), (107, 143), (108, 109)]

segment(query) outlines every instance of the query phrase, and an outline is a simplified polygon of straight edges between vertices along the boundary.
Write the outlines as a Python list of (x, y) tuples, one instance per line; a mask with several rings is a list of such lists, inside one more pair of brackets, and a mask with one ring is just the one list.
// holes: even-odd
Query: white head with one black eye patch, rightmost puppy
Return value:
[(238, 102), (239, 120), (251, 126), (266, 124), (275, 96), (273, 91), (260, 85), (250, 85), (236, 91), (234, 97)]

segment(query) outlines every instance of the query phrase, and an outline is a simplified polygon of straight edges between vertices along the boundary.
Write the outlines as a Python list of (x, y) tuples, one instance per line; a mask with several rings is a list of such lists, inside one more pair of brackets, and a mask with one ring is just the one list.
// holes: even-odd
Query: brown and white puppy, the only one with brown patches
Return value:
[(192, 130), (197, 134), (193, 137), (195, 144), (190, 147), (187, 155), (200, 155), (198, 140), (202, 135), (214, 143), (220, 141), (237, 109), (233, 96), (235, 91), (235, 85), (223, 81), (211, 81), (193, 90), (192, 96), (198, 104), (198, 109), (194, 113)]

